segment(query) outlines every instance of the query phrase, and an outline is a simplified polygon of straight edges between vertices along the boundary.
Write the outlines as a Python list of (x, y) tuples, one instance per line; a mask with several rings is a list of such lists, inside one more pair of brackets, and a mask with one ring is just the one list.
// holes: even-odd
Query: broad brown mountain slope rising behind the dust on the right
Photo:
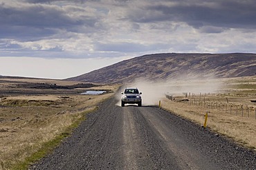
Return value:
[(174, 78), (237, 76), (256, 76), (256, 54), (149, 54), (66, 80), (90, 83), (130, 83), (136, 78), (167, 81)]

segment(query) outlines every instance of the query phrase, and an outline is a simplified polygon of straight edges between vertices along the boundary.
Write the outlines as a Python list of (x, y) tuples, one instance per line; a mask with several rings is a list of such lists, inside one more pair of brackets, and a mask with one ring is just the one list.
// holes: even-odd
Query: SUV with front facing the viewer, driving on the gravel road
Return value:
[(124, 107), (126, 103), (142, 105), (142, 99), (137, 88), (126, 88), (125, 92), (122, 92), (121, 106)]

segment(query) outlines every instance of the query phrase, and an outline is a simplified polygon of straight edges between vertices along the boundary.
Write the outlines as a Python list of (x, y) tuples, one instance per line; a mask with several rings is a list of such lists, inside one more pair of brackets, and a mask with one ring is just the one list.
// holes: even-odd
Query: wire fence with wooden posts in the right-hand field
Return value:
[[(205, 94), (205, 96), (210, 94)], [(165, 94), (166, 98), (173, 100), (175, 102), (183, 102), (188, 105), (197, 105), (199, 107), (203, 107), (205, 109), (217, 109), (221, 112), (225, 112), (225, 114), (247, 117), (247, 118), (255, 118), (256, 119), (256, 107), (248, 106), (248, 105), (238, 105), (234, 103), (229, 103), (228, 98), (226, 98), (226, 103), (210, 101), (209, 98), (205, 99), (205, 96), (201, 94), (196, 96), (192, 94), (190, 96), (185, 94), (185, 98), (179, 98), (178, 100), (174, 98), (172, 95)]]

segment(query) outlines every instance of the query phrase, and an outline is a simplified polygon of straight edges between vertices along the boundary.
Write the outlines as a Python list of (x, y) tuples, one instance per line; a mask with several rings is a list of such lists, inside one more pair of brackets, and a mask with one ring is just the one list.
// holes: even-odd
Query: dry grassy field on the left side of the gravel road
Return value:
[[(86, 88), (66, 89), (77, 83), (0, 79), (0, 169), (26, 168), (31, 161), (44, 156), (84, 120), (87, 112), (97, 109), (98, 103), (118, 88), (89, 87), (107, 90), (105, 94), (90, 96), (80, 94)], [(43, 84), (57, 85), (60, 89), (26, 88)]]

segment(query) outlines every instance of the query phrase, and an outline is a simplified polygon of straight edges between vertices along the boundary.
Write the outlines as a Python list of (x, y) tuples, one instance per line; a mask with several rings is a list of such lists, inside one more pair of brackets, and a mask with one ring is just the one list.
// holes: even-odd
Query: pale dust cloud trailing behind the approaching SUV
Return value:
[[(153, 83), (143, 79), (137, 79), (134, 83), (122, 86), (122, 92), (126, 87), (137, 87), (142, 92), (143, 105), (158, 105), (159, 100), (165, 97), (165, 94), (172, 96), (182, 96), (187, 94), (212, 94), (217, 93), (223, 87), (221, 79), (203, 78), (203, 79), (185, 79), (177, 78), (166, 82)], [(119, 93), (120, 94), (120, 93)], [(121, 94), (117, 96), (120, 105)]]

